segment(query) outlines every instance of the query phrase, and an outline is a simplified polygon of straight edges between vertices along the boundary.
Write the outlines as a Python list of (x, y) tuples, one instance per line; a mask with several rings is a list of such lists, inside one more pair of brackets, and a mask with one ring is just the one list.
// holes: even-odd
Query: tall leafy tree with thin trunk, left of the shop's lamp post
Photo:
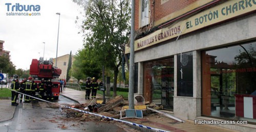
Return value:
[(82, 24), (86, 50), (93, 49), (93, 60), (114, 71), (113, 96), (116, 96), (121, 55), (124, 44), (129, 40), (127, 34), (130, 31), (130, 1), (73, 1), (83, 6), (86, 11)]

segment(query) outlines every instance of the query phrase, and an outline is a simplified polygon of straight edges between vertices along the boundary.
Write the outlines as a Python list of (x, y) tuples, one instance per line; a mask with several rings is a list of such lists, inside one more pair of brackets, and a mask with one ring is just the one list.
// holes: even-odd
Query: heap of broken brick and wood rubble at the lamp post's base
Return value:
[[(120, 118), (120, 111), (122, 111), (123, 106), (129, 105), (128, 100), (124, 100), (122, 96), (116, 96), (106, 101), (105, 104), (97, 103), (97, 100), (100, 98), (91, 99), (89, 103), (84, 104), (74, 104), (69, 105), (69, 107), (76, 108), (83, 111), (88, 111), (91, 113), (97, 113), (102, 116), (111, 117), (111, 118)], [(148, 103), (148, 102), (146, 102)], [(158, 106), (155, 103), (148, 104), (147, 107), (150, 107), (155, 110), (161, 110), (162, 106)], [(72, 109), (62, 108), (62, 112), (66, 113), (66, 118), (70, 120), (79, 120), (79, 121), (109, 121), (108, 119), (102, 119), (99, 116), (94, 116), (91, 114), (80, 113)], [(158, 115), (150, 110), (144, 110), (143, 115), (152, 114)], [(125, 116), (125, 113), (122, 113)], [(67, 119), (67, 120), (68, 120)]]

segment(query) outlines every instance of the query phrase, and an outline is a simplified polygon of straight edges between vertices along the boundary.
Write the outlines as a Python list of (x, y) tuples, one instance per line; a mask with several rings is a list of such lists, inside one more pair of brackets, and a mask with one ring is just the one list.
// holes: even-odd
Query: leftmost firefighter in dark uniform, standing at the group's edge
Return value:
[[(13, 76), (13, 81), (11, 82), (11, 89), (12, 89), (12, 105), (13, 106), (17, 106), (18, 103), (17, 101), (17, 97), (18, 97), (18, 93), (15, 91), (19, 91), (19, 82), (18, 82), (18, 75), (14, 75)], [(13, 91), (14, 90), (14, 91)]]

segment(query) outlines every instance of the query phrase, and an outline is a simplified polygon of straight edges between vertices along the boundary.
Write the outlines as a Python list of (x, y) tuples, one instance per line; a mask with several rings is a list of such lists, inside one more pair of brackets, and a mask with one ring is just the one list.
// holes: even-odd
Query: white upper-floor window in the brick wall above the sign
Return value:
[(141, 27), (148, 24), (149, 20), (149, 3), (148, 0), (141, 1)]

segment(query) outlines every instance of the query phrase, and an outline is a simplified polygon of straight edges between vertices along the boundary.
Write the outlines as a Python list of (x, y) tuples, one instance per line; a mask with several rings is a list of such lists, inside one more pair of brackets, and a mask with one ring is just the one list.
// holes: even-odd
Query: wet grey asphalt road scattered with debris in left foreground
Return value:
[[(73, 100), (59, 97), (56, 103), (75, 104)], [(16, 107), (13, 119), (0, 122), (0, 131), (130, 131), (113, 123), (77, 121), (67, 119), (58, 105), (44, 101), (22, 103)], [(133, 131), (133, 130), (131, 130)]]

